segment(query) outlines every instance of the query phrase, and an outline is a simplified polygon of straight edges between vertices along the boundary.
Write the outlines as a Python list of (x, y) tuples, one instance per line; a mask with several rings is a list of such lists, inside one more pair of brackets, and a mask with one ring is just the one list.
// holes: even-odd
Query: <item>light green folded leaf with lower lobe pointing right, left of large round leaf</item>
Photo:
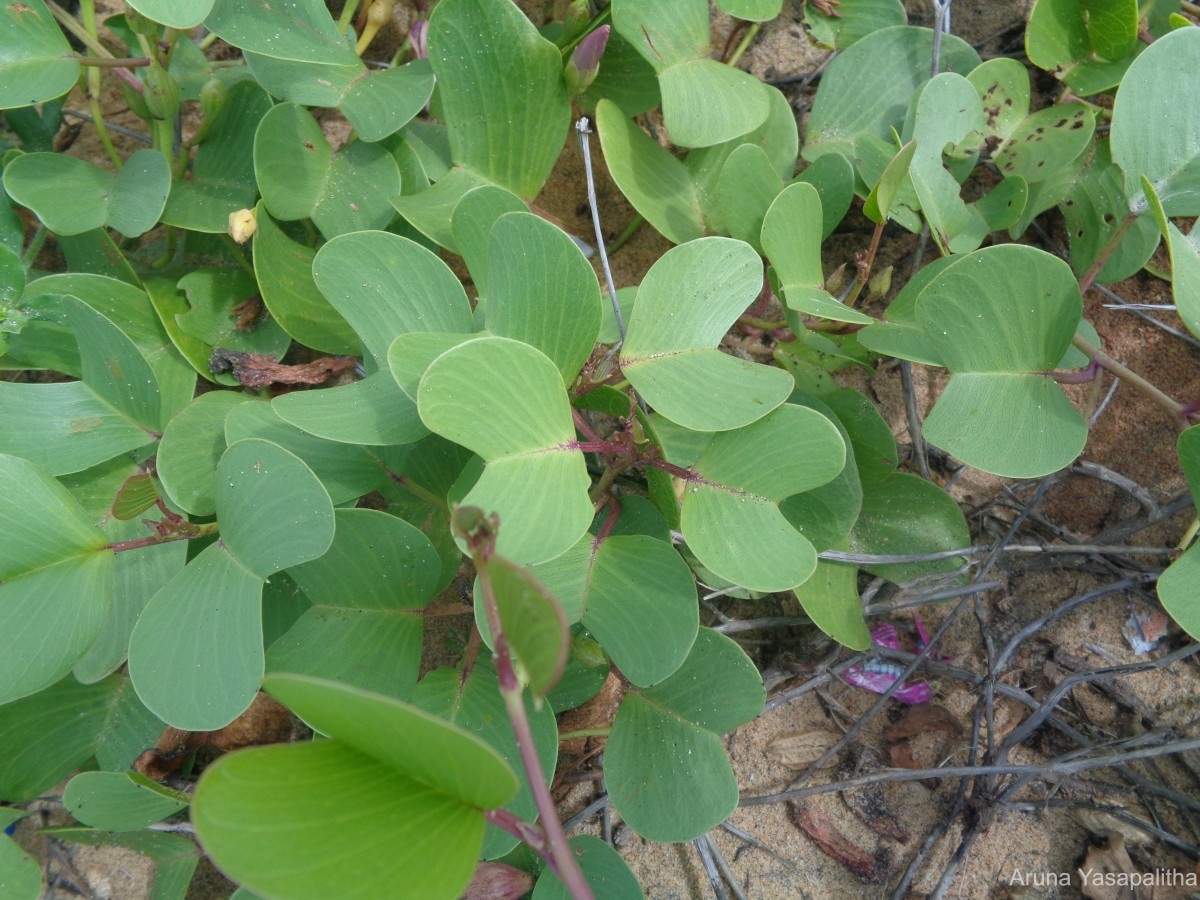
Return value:
[(870, 325), (875, 319), (824, 289), (821, 222), (821, 197), (803, 181), (785, 187), (763, 217), (762, 250), (775, 268), (787, 307), (834, 322)]

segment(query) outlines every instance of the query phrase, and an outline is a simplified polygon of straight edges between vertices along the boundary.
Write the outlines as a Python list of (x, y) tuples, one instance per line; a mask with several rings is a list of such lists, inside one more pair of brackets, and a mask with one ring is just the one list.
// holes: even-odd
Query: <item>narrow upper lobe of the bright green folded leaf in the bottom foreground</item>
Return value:
[(491, 746), (418, 707), (306, 676), (271, 674), (263, 689), (322, 734), (460, 803), (497, 809), (517, 791)]

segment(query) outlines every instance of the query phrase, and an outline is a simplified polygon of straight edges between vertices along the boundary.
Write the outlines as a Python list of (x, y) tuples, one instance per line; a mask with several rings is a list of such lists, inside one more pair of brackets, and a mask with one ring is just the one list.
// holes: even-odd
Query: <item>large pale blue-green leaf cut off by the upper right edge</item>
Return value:
[(1200, 113), (1181, 103), (1180, 74), (1200, 66), (1200, 29), (1181, 28), (1134, 60), (1112, 107), (1112, 161), (1124, 172), (1129, 210), (1147, 209), (1142, 176), (1169, 216), (1200, 214)]

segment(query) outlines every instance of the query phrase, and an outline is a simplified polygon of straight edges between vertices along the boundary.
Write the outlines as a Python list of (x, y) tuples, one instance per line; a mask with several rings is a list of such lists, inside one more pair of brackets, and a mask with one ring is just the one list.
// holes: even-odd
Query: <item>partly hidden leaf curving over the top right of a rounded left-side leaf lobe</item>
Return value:
[(280, 419), (270, 403), (241, 403), (226, 416), (226, 442), (262, 438), (295, 454), (312, 469), (336, 505), (377, 488), (386, 473), (365, 448), (347, 446), (310, 434)]

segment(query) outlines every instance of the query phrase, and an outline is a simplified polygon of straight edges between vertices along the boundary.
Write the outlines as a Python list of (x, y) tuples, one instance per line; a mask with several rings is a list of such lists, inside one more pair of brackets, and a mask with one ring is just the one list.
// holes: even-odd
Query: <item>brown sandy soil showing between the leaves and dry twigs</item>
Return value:
[[(558, 0), (551, 6), (563, 5)], [(529, 8), (535, 22), (540, 22), (547, 4), (544, 0), (529, 0), (523, 6)], [(911, 20), (926, 24), (930, 6), (931, 4), (920, 0), (908, 2)], [(964, 0), (954, 6), (953, 30), (967, 41), (977, 42), (985, 55), (1019, 50), (1021, 31), (1018, 23), (1028, 6), (1028, 0)], [(749, 48), (744, 67), (760, 77), (778, 78), (810, 71), (818, 65), (823, 53), (808, 44), (799, 22), (797, 4), (788, 0), (784, 14), (767, 24)], [(733, 23), (727, 17), (715, 17), (714, 47), (726, 44), (732, 28)], [(803, 116), (811, 94), (791, 91), (788, 96)], [(113, 106), (115, 120), (122, 122), (116, 114), (116, 108), (124, 107), (119, 94), (113, 98)], [(85, 156), (94, 154), (95, 148), (88, 142), (89, 132), (84, 130), (73, 152)], [(594, 154), (599, 156), (598, 148), (594, 148)], [(634, 211), (607, 179), (602, 167), (598, 193), (605, 230), (610, 238), (616, 236), (632, 218)], [(590, 234), (581, 157), (574, 136), (568, 142), (558, 169), (539, 198), (539, 205), (557, 216), (568, 229), (580, 235)], [(853, 253), (865, 250), (869, 232), (853, 226), (854, 222), (851, 221), (842, 233), (828, 242), (827, 271), (842, 263), (852, 266)], [(1061, 232), (1061, 224), (1054, 227)], [(1061, 233), (1055, 236), (1062, 238)], [(668, 246), (652, 228), (643, 227), (612, 259), (618, 287), (637, 283)], [(889, 229), (877, 266), (894, 264), (898, 274), (907, 272), (916, 246), (916, 236)], [(899, 289), (901, 281), (898, 275), (893, 293)], [(1169, 287), (1145, 274), (1111, 287), (1128, 301), (1170, 302)], [(1103, 308), (1105, 300), (1096, 292), (1086, 301), (1087, 316), (1111, 355), (1177, 398), (1200, 395), (1200, 356), (1195, 349), (1128, 312)], [(848, 373), (846, 378), (847, 384), (878, 401), (898, 442), (911, 446), (899, 367), (883, 364), (874, 376)], [(922, 412), (928, 413), (932, 398), (943, 384), (942, 376), (914, 367), (914, 380)], [(1082, 403), (1086, 390), (1080, 389), (1075, 395)], [(1093, 427), (1082, 458), (1148, 487), (1153, 500), (1162, 503), (1184, 488), (1174, 454), (1175, 436), (1175, 425), (1164, 414), (1142, 401), (1133, 390), (1122, 386)], [(935, 464), (935, 476), (944, 482), (949, 470), (944, 464)], [(1032, 494), (1033, 487), (1032, 484), (1002, 482), (978, 473), (967, 473), (956, 480), (952, 493), (970, 511), (968, 520), (978, 541), (988, 542), (996, 540), (1007, 529), (1016, 511)], [(1105, 532), (1120, 528), (1141, 512), (1142, 505), (1112, 484), (1086, 474), (1064, 474), (1054, 481), (1044, 503), (1034, 509), (1019, 542), (1049, 540), (1056, 535), (1075, 541), (1105, 542), (1109, 540), (1104, 536)], [(1174, 545), (1189, 515), (1189, 511), (1182, 512), (1153, 528), (1120, 538), (1139, 545)], [(1144, 562), (1147, 566), (1154, 564), (1152, 559)], [(978, 607), (967, 607), (965, 613), (958, 613), (941, 643), (941, 652), (950, 665), (977, 673), (985, 671), (986, 641), (994, 647), (1003, 647), (1027, 623), (1069, 598), (1111, 583), (1120, 574), (1105, 571), (1104, 565), (1087, 557), (1063, 562), (1061, 558), (1006, 556), (992, 571), (992, 577), (1001, 587), (983, 594)], [(1043, 697), (1069, 673), (1072, 660), (1075, 660), (1076, 666), (1082, 660), (1086, 667), (1094, 668), (1145, 661), (1183, 646), (1184, 636), (1172, 629), (1163, 647), (1150, 656), (1138, 656), (1130, 649), (1121, 631), (1130, 610), (1156, 607), (1152, 587), (1148, 590), (1117, 592), (1084, 604), (1021, 644), (1002, 680), (1012, 686), (1028, 689), (1036, 697)], [(739, 617), (798, 613), (794, 599), (790, 598), (770, 598), (755, 605), (716, 601), (715, 608), (724, 614)], [(934, 630), (953, 614), (954, 608), (954, 604), (926, 605), (919, 613), (926, 628)], [(710, 622), (715, 622), (715, 617), (707, 614)], [(889, 620), (911, 641), (911, 613), (899, 612)], [(811, 629), (742, 632), (737, 637), (767, 672), (768, 680), (773, 682), (772, 696), (794, 694), (806, 684), (806, 679), (821, 685), (775, 706), (757, 721), (727, 737), (743, 796), (763, 796), (787, 788), (798, 774), (781, 764), (778, 756), (770, 752), (770, 742), (797, 732), (822, 731), (840, 736), (864, 716), (877, 697), (836, 678), (822, 680), (798, 676), (786, 668), (788, 660), (803, 665), (817, 660), (828, 650), (828, 644), (812, 634)], [(1072, 727), (1097, 743), (1153, 730), (1183, 733), (1190, 726), (1194, 696), (1200, 688), (1193, 662), (1134, 674), (1123, 678), (1121, 684), (1127, 691), (1121, 695), (1122, 698), (1115, 698), (1111, 690), (1105, 691), (1099, 686), (1079, 686), (1062, 701), (1058, 714)], [(953, 678), (937, 682), (934, 703), (946, 710), (946, 719), (954, 722), (958, 730), (929, 731), (914, 738), (912, 754), (918, 764), (934, 767), (967, 763), (972, 748), (971, 720), (977, 697), (978, 689), (971, 684)], [(806, 784), (870, 773), (890, 764), (889, 742), (884, 733), (904, 712), (905, 708), (900, 704), (889, 703), (882, 714), (862, 727), (830, 768), (823, 769)], [(1024, 716), (1024, 708), (1012, 701), (998, 701), (995, 715), (995, 730), (1002, 737), (1018, 726)], [(1043, 728), (1018, 746), (1009, 761), (1016, 764), (1039, 764), (1070, 749), (1069, 740), (1052, 730)], [(1139, 764), (1136, 773), (1142, 779), (1165, 784), (1187, 797), (1195, 797), (1196, 764), (1189, 760), (1184, 762), (1188, 764), (1181, 764), (1176, 760), (1159, 760)], [(916, 868), (910, 888), (910, 894), (914, 896), (934, 890), (948, 865), (956, 868), (956, 875), (949, 884), (947, 896), (1079, 896), (1078, 876), (1066, 887), (1031, 889), (1012, 882), (1014, 877), (1018, 881), (1020, 877), (1030, 881), (1037, 874), (1074, 872), (1090, 850), (1105, 845), (1106, 832), (1114, 827), (1115, 820), (1100, 821), (1094, 815), (1088, 818), (1087, 814), (1081, 815), (1075, 806), (1039, 805), (1043, 802), (1118, 804), (1133, 816), (1156, 822), (1164, 832), (1177, 835), (1184, 845), (1200, 844), (1195, 822), (1182, 816), (1177, 806), (1145, 792), (1141, 796), (1134, 793), (1128, 782), (1111, 769), (1091, 772), (1086, 776), (1038, 779), (1019, 794), (1016, 804), (1004, 808), (989, 804), (985, 786), (976, 784), (960, 809), (954, 803), (959, 786), (958, 779), (943, 778), (883, 787), (874, 798), (874, 821), (878, 824), (881, 818), (894, 815), (907, 832), (907, 840), (902, 841), (872, 830), (841, 794), (826, 793), (806, 802), (806, 809), (828, 816), (852, 848), (875, 860), (880, 883), (864, 883), (818, 847), (797, 827), (792, 810), (782, 803), (739, 809), (730, 820), (730, 824), (754, 835), (779, 858), (749, 847), (745, 841), (722, 829), (714, 830), (713, 844), (727, 862), (740, 890), (746, 896), (761, 899), (890, 895), (910, 860), (918, 854), (923, 862)], [(594, 799), (598, 791), (595, 782), (576, 787), (563, 803), (564, 817)], [(55, 818), (52, 814), (46, 816)], [(960, 848), (964, 833), (974, 834), (974, 826), (980, 818), (990, 821), (989, 827), (976, 834), (968, 847)], [(926, 836), (948, 820), (950, 823), (946, 834), (930, 847), (923, 847)], [(612, 824), (616, 845), (637, 874), (648, 896), (667, 900), (714, 895), (694, 846), (649, 844), (625, 829), (616, 816)], [(38, 848), (52, 878), (64, 871), (73, 871), (64, 883), (74, 882), (79, 889), (85, 889), (96, 898), (124, 900), (148, 895), (148, 874), (134, 854), (73, 845), (59, 845), (48, 850), (46, 841), (34, 839), (30, 830), (31, 824), (25, 824), (22, 834), (31, 846)], [(584, 823), (581, 830), (600, 833), (601, 826), (599, 821), (592, 821)], [(1190, 870), (1194, 865), (1194, 858), (1163, 840), (1151, 838), (1134, 841), (1133, 836), (1127, 836), (1127, 841), (1138, 871)], [(134, 877), (132, 881), (120, 881), (122, 874), (134, 874)], [(228, 896), (230, 890), (228, 882), (206, 870), (203, 877), (197, 878), (190, 896)], [(70, 893), (67, 887), (60, 888), (59, 894), (66, 893)]]

